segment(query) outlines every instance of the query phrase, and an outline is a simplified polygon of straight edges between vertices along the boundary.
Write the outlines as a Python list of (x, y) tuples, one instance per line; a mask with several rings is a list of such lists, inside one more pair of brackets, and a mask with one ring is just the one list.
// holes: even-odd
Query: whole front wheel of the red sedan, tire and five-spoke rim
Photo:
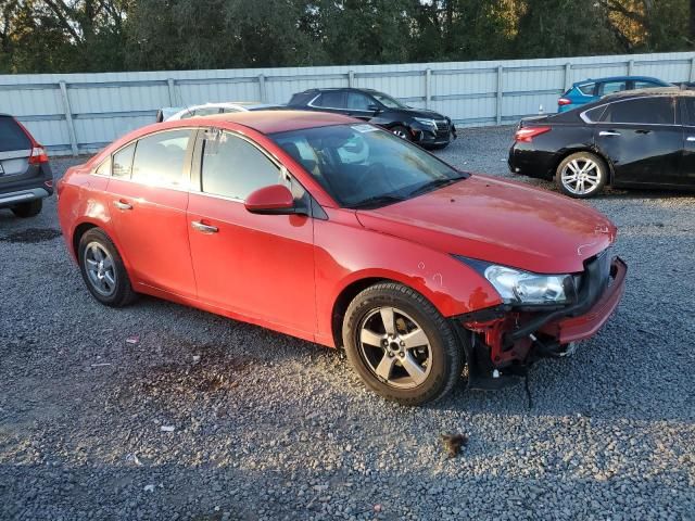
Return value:
[(441, 398), (463, 371), (463, 348), (446, 319), (422, 295), (393, 282), (355, 296), (343, 319), (343, 344), (365, 384), (402, 405)]

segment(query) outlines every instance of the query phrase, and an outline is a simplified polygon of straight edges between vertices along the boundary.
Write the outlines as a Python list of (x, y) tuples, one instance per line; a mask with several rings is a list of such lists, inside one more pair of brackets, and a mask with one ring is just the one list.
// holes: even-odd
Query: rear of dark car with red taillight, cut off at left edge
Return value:
[(0, 208), (34, 217), (52, 193), (46, 149), (14, 117), (0, 114)]

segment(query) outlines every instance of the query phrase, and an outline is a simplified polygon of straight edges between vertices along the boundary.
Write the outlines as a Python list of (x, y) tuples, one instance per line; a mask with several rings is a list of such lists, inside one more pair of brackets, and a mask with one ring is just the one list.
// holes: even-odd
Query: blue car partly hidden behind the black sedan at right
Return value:
[(612, 78), (585, 79), (572, 85), (572, 88), (557, 100), (557, 112), (567, 112), (607, 94), (622, 90), (653, 89), (673, 87), (672, 84), (646, 76), (615, 76)]

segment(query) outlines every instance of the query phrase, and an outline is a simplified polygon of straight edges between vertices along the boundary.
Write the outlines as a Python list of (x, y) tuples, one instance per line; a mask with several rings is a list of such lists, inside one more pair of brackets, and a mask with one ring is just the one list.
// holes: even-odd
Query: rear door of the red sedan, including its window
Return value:
[(134, 282), (194, 298), (186, 218), (193, 137), (189, 129), (167, 130), (121, 149), (108, 191)]

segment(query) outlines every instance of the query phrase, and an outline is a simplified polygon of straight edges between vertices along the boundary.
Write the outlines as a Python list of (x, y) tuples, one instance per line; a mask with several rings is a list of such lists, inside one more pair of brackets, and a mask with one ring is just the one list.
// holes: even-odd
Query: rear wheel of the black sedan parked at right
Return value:
[(606, 186), (608, 166), (591, 152), (570, 154), (560, 162), (555, 182), (565, 195), (574, 199), (593, 198)]

